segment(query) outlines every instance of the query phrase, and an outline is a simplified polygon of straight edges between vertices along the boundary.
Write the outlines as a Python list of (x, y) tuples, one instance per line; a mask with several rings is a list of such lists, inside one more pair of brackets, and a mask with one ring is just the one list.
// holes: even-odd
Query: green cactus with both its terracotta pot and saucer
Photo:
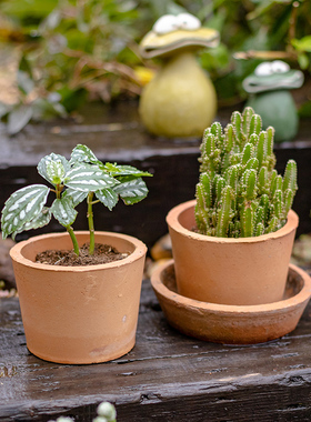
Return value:
[[(173, 262), (151, 280), (182, 332), (217, 342), (268, 341), (293, 330), (308, 303), (308, 274), (289, 269), (297, 163), (278, 174), (273, 135), (251, 108), (233, 112), (224, 130), (214, 122), (204, 131), (195, 200), (167, 215)], [(288, 277), (294, 280), (289, 302)]]

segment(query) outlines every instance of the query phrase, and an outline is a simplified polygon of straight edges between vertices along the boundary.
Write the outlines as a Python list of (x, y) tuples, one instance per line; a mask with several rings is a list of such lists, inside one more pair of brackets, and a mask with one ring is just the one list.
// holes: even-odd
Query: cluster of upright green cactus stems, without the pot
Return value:
[(195, 222), (201, 234), (248, 238), (274, 232), (287, 222), (297, 191), (297, 163), (284, 175), (274, 169), (274, 129), (262, 130), (253, 109), (235, 111), (224, 130), (205, 129), (195, 189)]

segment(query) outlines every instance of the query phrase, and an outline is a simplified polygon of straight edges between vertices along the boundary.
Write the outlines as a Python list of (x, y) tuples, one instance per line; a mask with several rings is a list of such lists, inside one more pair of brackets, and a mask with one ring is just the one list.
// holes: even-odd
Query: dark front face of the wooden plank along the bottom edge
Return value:
[[(183, 386), (173, 385), (173, 392), (162, 389), (162, 394), (142, 393), (136, 402), (117, 400), (120, 421), (310, 421), (310, 373), (300, 375), (299, 381), (290, 378), (264, 380), (252, 383), (232, 383), (230, 388), (209, 386), (193, 394)], [(299, 383), (299, 385), (298, 385)], [(192, 388), (192, 385), (190, 385)], [(109, 395), (98, 395), (98, 401)], [(97, 404), (90, 403), (94, 398), (84, 399), (80, 405), (71, 406), (70, 401), (53, 401), (53, 413), (50, 402), (30, 403), (28, 409), (14, 404), (14, 421), (48, 421), (53, 414), (62, 413), (74, 416), (76, 421), (91, 421)], [(9, 420), (8, 416), (7, 420)], [(6, 419), (0, 419), (6, 420)]]

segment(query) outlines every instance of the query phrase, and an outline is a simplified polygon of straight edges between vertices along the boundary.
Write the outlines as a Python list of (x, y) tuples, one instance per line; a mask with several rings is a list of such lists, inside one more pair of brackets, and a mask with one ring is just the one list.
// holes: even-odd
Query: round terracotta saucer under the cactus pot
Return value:
[(311, 295), (311, 279), (290, 264), (283, 300), (262, 305), (200, 302), (177, 292), (174, 261), (151, 277), (151, 284), (168, 322), (183, 334), (227, 344), (254, 344), (293, 331)]

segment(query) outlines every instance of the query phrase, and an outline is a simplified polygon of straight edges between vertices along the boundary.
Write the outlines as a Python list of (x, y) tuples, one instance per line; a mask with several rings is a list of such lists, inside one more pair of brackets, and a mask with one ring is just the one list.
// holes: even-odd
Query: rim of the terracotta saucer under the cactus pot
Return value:
[(173, 302), (177, 307), (187, 307), (200, 311), (208, 311), (212, 313), (221, 314), (244, 314), (247, 316), (255, 316), (260, 313), (273, 313), (275, 311), (288, 311), (290, 308), (294, 308), (300, 303), (309, 300), (311, 295), (311, 278), (309, 274), (301, 270), (299, 267), (291, 264), (289, 268), (297, 272), (303, 280), (303, 287), (295, 295), (284, 299), (278, 302), (255, 304), (255, 305), (230, 305), (221, 303), (202, 302), (195, 299), (190, 299), (179, 294), (167, 288), (162, 282), (162, 273), (171, 265), (174, 264), (174, 260), (168, 260), (162, 265), (159, 265), (151, 275), (151, 285), (157, 293), (165, 298), (169, 302)]

